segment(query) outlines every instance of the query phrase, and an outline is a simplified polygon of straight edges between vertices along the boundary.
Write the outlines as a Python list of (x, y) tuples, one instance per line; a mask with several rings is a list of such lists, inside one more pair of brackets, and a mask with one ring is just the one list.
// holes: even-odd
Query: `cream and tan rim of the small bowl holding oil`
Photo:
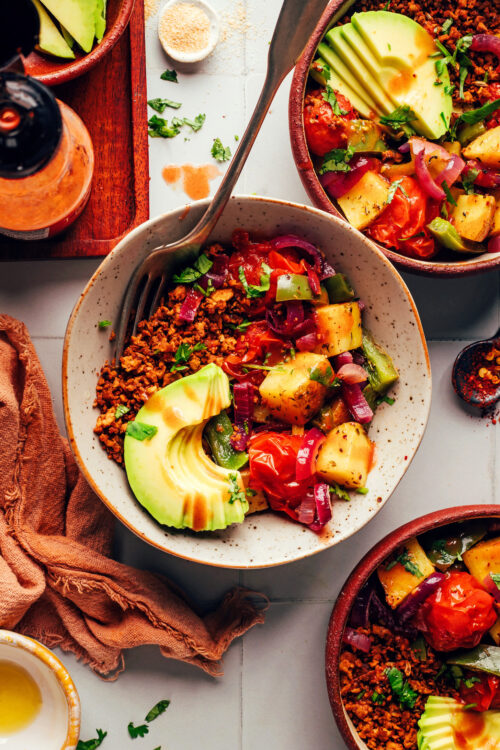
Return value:
[(43, 643), (11, 630), (0, 629), (0, 644), (11, 646), (12, 648), (20, 648), (23, 651), (33, 654), (33, 656), (36, 656), (37, 659), (43, 662), (54, 673), (64, 693), (68, 707), (68, 729), (66, 739), (63, 745), (61, 745), (60, 750), (74, 750), (80, 736), (80, 698), (71, 675), (62, 661), (47, 646), (44, 646)]

